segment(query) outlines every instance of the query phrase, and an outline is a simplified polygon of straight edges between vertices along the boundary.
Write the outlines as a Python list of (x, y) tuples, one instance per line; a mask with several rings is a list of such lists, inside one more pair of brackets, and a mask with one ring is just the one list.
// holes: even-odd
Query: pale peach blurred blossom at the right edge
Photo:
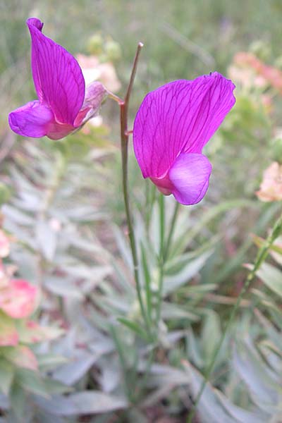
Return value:
[(277, 161), (271, 163), (264, 171), (264, 177), (256, 195), (263, 202), (282, 200), (282, 165)]

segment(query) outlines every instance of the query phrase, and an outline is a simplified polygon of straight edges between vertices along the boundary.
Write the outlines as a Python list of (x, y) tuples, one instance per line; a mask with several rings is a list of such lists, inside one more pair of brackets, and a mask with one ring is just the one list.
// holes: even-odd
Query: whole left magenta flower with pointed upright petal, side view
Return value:
[(85, 92), (78, 61), (59, 44), (42, 34), (43, 23), (27, 20), (32, 40), (31, 66), (38, 100), (11, 112), (11, 129), (25, 137), (59, 140), (92, 118), (105, 97), (100, 82)]

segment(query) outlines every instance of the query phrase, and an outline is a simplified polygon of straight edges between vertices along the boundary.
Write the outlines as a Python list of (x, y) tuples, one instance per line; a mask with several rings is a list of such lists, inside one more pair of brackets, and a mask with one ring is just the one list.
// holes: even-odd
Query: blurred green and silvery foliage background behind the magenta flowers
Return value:
[[(282, 161), (281, 1), (11, 0), (0, 12), (0, 202), (4, 230), (13, 236), (7, 264), (41, 290), (34, 318), (64, 329), (56, 341), (29, 345), (39, 369), (17, 363), (6, 372), (0, 421), (185, 422), (245, 281), (243, 265), (254, 261), (281, 212), (280, 202), (255, 195), (264, 168)], [(62, 142), (24, 140), (8, 128), (8, 112), (35, 98), (30, 16), (73, 55), (114, 66), (121, 97), (137, 42), (144, 42), (131, 121), (145, 94), (170, 80), (216, 70), (237, 85), (237, 103), (207, 145), (209, 192), (201, 204), (180, 207), (154, 343), (144, 333), (131, 276), (116, 104), (108, 100), (102, 121)], [(133, 155), (130, 193), (150, 307), (159, 208)], [(168, 228), (173, 198), (165, 205)], [(279, 422), (281, 264), (278, 239), (241, 304), (195, 422)], [(23, 379), (20, 390), (13, 374)]]

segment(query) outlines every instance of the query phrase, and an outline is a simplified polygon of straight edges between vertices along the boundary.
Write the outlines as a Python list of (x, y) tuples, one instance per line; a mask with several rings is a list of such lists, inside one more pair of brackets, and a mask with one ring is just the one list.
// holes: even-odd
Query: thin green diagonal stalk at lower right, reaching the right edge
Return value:
[(189, 415), (188, 415), (188, 419), (187, 419), (187, 423), (192, 423), (192, 418), (195, 416), (195, 412), (197, 410), (197, 405), (200, 403), (200, 399), (202, 397), (202, 393), (204, 392), (204, 388), (207, 385), (207, 382), (209, 381), (209, 376), (212, 374), (212, 370), (214, 369), (214, 364), (216, 362), (216, 358), (219, 355), (219, 351), (221, 349), (221, 346), (226, 338), (226, 334), (228, 332), (228, 329), (230, 328), (233, 319), (235, 317), (235, 314), (238, 310), (238, 307), (240, 306), (240, 302), (243, 299), (243, 296), (245, 295), (245, 293), (247, 292), (247, 289), (250, 286), (250, 283), (252, 282), (253, 278), (255, 278), (255, 274), (257, 272), (257, 270), (259, 269), (259, 267), (262, 265), (262, 263), (264, 262), (264, 260), (266, 259), (267, 255), (269, 254), (269, 248), (271, 247), (271, 245), (274, 243), (274, 241), (276, 240), (276, 238), (278, 238), (278, 236), (281, 234), (282, 232), (282, 214), (281, 216), (277, 219), (277, 221), (274, 223), (274, 228), (272, 229), (270, 235), (266, 238), (266, 241), (264, 242), (264, 244), (262, 245), (262, 247), (260, 247), (258, 253), (257, 253), (257, 257), (255, 259), (255, 264), (252, 267), (252, 270), (250, 271), (250, 274), (248, 274), (247, 279), (245, 281), (245, 284), (242, 288), (242, 290), (240, 291), (240, 294), (238, 295), (237, 301), (235, 302), (235, 305), (231, 311), (231, 315), (228, 319), (228, 322), (226, 324), (226, 327), (223, 331), (223, 334), (221, 336), (221, 339), (219, 341), (219, 345), (216, 348), (216, 350), (214, 350), (214, 354), (212, 356), (212, 360), (209, 364), (209, 367), (207, 368), (207, 372), (204, 375), (204, 379), (202, 381), (202, 385), (200, 387), (200, 391), (197, 394), (197, 397), (195, 399), (195, 403), (192, 407), (192, 410), (190, 411)]

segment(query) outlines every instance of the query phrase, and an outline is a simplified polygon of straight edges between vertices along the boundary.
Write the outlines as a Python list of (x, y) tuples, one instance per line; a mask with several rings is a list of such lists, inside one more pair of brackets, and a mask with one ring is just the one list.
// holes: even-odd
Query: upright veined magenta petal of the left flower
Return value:
[(27, 20), (32, 38), (32, 75), (40, 102), (53, 111), (58, 123), (73, 125), (85, 97), (85, 80), (78, 61), (42, 34), (43, 23)]

